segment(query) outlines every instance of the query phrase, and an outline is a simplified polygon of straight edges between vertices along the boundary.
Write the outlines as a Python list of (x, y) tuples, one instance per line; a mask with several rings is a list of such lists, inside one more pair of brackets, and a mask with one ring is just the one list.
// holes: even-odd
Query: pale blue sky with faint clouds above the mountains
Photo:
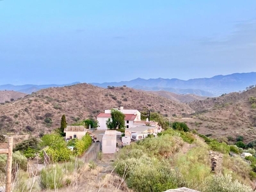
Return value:
[(0, 84), (255, 71), (255, 0), (0, 1)]

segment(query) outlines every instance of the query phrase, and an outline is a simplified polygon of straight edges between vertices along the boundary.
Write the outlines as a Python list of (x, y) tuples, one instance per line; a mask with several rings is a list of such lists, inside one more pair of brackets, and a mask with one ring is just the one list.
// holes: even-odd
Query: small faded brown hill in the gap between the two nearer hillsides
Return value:
[(157, 92), (150, 92), (150, 93), (154, 93), (156, 95), (159, 95), (161, 97), (166, 97), (167, 99), (170, 100), (174, 100), (177, 102), (183, 102), (183, 103), (187, 103), (187, 102), (192, 102), (194, 100), (205, 100), (207, 99), (207, 97), (202, 97), (202, 96), (198, 96), (198, 95), (193, 95), (193, 94), (176, 94), (176, 93), (172, 93), (172, 92), (166, 92), (166, 91), (157, 91)]

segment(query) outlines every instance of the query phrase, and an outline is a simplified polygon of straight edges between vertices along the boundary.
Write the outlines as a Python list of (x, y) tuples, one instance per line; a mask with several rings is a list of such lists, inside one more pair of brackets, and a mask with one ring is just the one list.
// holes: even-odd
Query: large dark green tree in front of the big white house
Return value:
[(121, 111), (111, 109), (111, 119), (109, 118), (106, 121), (106, 125), (108, 129), (124, 129), (125, 122), (124, 122), (125, 115)]

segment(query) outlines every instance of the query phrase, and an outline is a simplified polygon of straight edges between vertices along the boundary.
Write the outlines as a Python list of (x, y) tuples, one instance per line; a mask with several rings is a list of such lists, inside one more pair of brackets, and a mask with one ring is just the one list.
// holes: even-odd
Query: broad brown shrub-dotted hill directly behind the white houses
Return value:
[(60, 126), (65, 114), (67, 124), (86, 118), (96, 118), (104, 109), (119, 108), (143, 111), (150, 109), (168, 116), (194, 111), (188, 105), (132, 88), (99, 88), (91, 84), (76, 84), (61, 88), (47, 88), (0, 106), (0, 132), (39, 134)]

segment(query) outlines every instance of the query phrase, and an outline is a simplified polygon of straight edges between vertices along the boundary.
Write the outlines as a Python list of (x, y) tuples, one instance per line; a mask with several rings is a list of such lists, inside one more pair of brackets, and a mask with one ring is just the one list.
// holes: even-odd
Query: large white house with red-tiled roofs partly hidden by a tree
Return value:
[[(118, 109), (116, 109), (118, 110)], [(120, 107), (120, 110), (125, 115), (125, 126), (126, 128), (134, 127), (134, 122), (141, 122), (141, 113), (137, 109), (124, 109), (123, 106)], [(111, 118), (111, 110), (105, 110), (105, 113), (100, 113), (97, 115), (97, 120), (99, 122), (98, 130), (108, 129), (106, 121)]]

